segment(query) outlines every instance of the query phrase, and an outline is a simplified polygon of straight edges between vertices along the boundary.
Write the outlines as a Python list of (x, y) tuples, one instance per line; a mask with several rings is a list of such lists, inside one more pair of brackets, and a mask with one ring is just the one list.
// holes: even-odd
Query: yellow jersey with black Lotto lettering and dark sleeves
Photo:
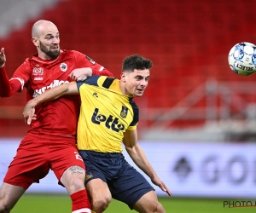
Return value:
[(78, 149), (122, 153), (125, 130), (136, 130), (138, 107), (133, 96), (123, 95), (119, 79), (91, 76), (77, 83), (81, 107)]

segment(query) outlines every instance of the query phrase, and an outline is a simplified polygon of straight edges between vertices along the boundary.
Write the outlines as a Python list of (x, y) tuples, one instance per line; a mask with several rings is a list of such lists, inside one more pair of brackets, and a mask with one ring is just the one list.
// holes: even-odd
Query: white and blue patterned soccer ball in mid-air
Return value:
[(253, 43), (236, 43), (230, 49), (229, 65), (232, 71), (241, 76), (256, 72), (256, 46)]

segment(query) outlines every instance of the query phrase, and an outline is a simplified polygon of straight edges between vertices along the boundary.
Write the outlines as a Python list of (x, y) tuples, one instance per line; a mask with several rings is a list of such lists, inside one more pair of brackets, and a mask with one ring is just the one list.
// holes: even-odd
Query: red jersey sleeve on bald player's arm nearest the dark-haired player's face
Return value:
[(79, 68), (90, 67), (92, 69), (93, 75), (113, 77), (112, 72), (108, 71), (108, 69), (106, 69), (104, 66), (101, 66), (98, 63), (96, 63), (96, 61), (92, 60), (88, 55), (84, 55), (75, 50), (73, 50), (73, 53), (76, 56), (77, 66)]

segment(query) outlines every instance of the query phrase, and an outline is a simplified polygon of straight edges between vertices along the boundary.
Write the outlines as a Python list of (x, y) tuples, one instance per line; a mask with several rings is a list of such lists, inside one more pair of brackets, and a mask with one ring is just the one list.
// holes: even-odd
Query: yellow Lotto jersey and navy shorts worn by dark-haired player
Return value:
[(128, 204), (132, 210), (137, 200), (154, 190), (122, 153), (125, 130), (137, 128), (137, 105), (133, 96), (121, 93), (116, 78), (92, 76), (77, 85), (82, 102), (78, 148), (86, 168), (85, 185), (102, 179), (113, 199)]

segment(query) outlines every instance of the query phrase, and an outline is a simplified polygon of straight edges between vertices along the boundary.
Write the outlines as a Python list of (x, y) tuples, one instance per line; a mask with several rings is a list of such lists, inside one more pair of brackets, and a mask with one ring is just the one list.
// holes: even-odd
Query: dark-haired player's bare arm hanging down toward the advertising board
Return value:
[(169, 196), (172, 195), (171, 191), (166, 187), (166, 184), (160, 180), (152, 165), (148, 162), (148, 158), (143, 152), (142, 147), (139, 146), (137, 142), (137, 130), (126, 130), (124, 133), (123, 143), (127, 153), (130, 155), (131, 159), (138, 168), (143, 170), (143, 172), (150, 177), (151, 181), (162, 191), (166, 192)]

